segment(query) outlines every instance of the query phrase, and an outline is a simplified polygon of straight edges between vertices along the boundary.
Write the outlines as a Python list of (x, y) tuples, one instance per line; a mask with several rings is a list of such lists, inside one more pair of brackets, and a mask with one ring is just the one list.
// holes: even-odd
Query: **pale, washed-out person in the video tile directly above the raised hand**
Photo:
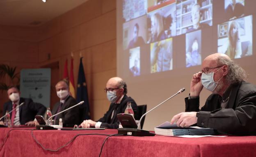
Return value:
[(191, 50), (186, 53), (186, 67), (201, 65), (201, 54), (197, 38), (194, 39)]

